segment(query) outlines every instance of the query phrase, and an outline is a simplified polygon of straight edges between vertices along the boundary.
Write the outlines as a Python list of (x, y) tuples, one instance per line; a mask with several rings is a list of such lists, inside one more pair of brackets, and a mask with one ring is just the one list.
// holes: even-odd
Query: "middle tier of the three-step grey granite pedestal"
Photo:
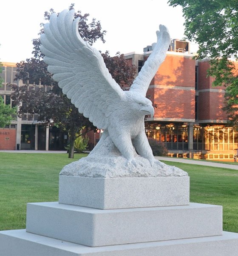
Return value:
[(222, 207), (93, 209), (57, 202), (28, 204), (28, 232), (87, 246), (218, 236)]

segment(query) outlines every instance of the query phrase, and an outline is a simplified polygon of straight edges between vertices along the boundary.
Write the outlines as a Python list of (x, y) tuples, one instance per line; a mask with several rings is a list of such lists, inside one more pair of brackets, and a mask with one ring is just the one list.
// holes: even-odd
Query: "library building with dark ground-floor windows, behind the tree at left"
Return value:
[[(6, 105), (15, 106), (11, 99), (11, 84), (23, 85), (23, 81), (14, 81), (17, 73), (15, 63), (3, 62), (2, 87), (0, 96)], [(48, 90), (43, 85), (30, 85), (33, 90)], [(36, 150), (63, 150), (67, 145), (67, 133), (62, 133), (56, 127), (45, 127), (37, 122), (37, 115), (24, 114), (21, 118), (15, 117), (11, 125), (0, 128), (0, 150), (36, 149)]]

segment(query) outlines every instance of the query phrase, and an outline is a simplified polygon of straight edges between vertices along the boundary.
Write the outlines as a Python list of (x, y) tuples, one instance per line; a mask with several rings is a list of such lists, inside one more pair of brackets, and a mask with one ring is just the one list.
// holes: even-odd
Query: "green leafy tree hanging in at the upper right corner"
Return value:
[(208, 76), (214, 86), (224, 85), (229, 123), (238, 129), (238, 1), (237, 0), (169, 0), (181, 6), (185, 18), (185, 35), (198, 43), (196, 58), (210, 58)]

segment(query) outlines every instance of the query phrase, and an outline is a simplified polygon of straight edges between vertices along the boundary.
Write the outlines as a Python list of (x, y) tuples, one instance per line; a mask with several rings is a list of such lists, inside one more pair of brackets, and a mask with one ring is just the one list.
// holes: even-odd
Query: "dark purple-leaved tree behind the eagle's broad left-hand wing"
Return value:
[[(73, 9), (74, 4), (71, 4), (69, 10)], [(45, 20), (49, 20), (50, 15), (54, 12), (45, 12)], [(105, 42), (103, 36), (105, 31), (101, 29), (99, 21), (93, 19), (88, 23), (89, 14), (82, 15), (80, 11), (75, 13), (74, 18), (79, 17), (79, 34), (89, 44), (93, 44), (100, 39)], [(43, 26), (43, 24), (41, 24)], [(43, 33), (41, 29), (40, 33)], [(14, 93), (12, 98), (19, 104), (19, 114), (32, 113), (38, 114), (38, 121), (49, 122), (54, 121), (60, 128), (68, 131), (69, 137), (69, 157), (74, 157), (74, 141), (78, 136), (84, 135), (80, 130), (85, 132), (90, 129), (96, 129), (87, 118), (78, 112), (78, 109), (71, 104), (70, 100), (62, 94), (62, 90), (58, 87), (57, 82), (52, 79), (52, 76), (47, 71), (47, 64), (44, 63), (42, 53), (40, 52), (40, 39), (33, 40), (34, 57), (21, 61), (17, 64), (18, 75), (17, 79), (22, 79), (26, 86), (13, 86)], [(129, 64), (119, 53), (111, 58), (109, 53), (103, 54), (107, 67), (115, 80), (121, 86), (128, 86), (132, 83), (136, 68)], [(119, 76), (119, 70), (123, 71), (123, 75)], [(29, 84), (43, 84), (44, 86), (52, 86), (52, 90), (45, 92), (43, 90), (29, 90)], [(23, 102), (20, 104), (20, 102)], [(77, 135), (78, 134), (78, 135)]]

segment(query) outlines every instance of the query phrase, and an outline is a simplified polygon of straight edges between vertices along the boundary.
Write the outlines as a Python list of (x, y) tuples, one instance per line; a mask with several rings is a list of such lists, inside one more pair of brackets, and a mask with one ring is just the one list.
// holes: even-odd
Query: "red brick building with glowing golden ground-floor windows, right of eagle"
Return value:
[[(145, 120), (147, 137), (163, 142), (170, 156), (233, 160), (238, 134), (227, 126), (222, 110), (225, 88), (212, 87), (208, 60), (195, 61), (189, 48), (174, 39), (150, 83), (147, 96), (157, 107)], [(147, 46), (143, 54), (125, 58), (139, 71), (151, 50)]]

